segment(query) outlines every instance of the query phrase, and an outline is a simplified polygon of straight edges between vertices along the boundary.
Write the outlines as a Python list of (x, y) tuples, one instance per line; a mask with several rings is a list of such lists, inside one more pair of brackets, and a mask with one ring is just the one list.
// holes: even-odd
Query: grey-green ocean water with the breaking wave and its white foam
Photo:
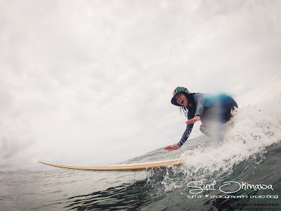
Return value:
[(184, 165), (98, 172), (50, 167), (0, 172), (0, 210), (280, 210), (281, 121), (278, 103), (234, 113), (222, 141), (189, 139), (126, 160), (181, 158)]

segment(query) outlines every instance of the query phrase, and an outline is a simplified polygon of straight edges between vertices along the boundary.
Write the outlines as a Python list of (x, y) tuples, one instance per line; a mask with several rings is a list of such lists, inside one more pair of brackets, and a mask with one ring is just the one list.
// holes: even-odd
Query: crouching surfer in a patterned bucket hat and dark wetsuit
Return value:
[(179, 149), (188, 139), (193, 124), (201, 121), (200, 131), (213, 138), (216, 135), (214, 125), (220, 126), (230, 120), (231, 111), (238, 108), (237, 103), (226, 94), (202, 94), (188, 91), (185, 87), (176, 87), (171, 103), (180, 106), (181, 112), (188, 117), (188, 124), (181, 141), (176, 145), (164, 148), (167, 151)]

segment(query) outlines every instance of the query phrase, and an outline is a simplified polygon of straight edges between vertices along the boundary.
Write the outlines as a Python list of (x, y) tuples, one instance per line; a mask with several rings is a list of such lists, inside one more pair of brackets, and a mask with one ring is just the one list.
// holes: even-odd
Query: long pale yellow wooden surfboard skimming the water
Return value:
[(130, 163), (130, 164), (119, 164), (119, 165), (101, 165), (101, 166), (81, 166), (81, 165), (59, 165), (48, 162), (39, 161), (45, 165), (51, 165), (54, 167), (62, 167), (74, 170), (98, 170), (98, 171), (122, 171), (122, 170), (143, 170), (151, 169), (155, 167), (169, 167), (175, 165), (182, 165), (183, 160), (178, 158), (170, 160), (158, 160), (152, 162), (140, 162), (140, 163)]

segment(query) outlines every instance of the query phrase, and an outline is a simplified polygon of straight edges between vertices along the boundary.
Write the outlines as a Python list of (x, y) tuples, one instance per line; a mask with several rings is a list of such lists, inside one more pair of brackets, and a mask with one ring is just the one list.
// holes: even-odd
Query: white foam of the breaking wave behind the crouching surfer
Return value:
[[(266, 147), (281, 140), (281, 96), (266, 106), (244, 106), (226, 124), (227, 132), (220, 143), (198, 146), (181, 155), (185, 174), (206, 177), (214, 172), (230, 173), (233, 165), (250, 156), (265, 153)], [(258, 161), (257, 161), (258, 162)], [(260, 161), (259, 161), (260, 162)], [(200, 173), (200, 174), (199, 174)], [(187, 177), (188, 178), (188, 177)]]

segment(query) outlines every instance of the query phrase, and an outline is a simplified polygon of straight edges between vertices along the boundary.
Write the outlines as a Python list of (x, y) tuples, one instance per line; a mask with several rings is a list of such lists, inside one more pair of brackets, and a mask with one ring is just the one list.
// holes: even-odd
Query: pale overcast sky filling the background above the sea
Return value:
[(178, 86), (239, 106), (273, 98), (280, 14), (281, 1), (0, 1), (0, 170), (174, 144)]

